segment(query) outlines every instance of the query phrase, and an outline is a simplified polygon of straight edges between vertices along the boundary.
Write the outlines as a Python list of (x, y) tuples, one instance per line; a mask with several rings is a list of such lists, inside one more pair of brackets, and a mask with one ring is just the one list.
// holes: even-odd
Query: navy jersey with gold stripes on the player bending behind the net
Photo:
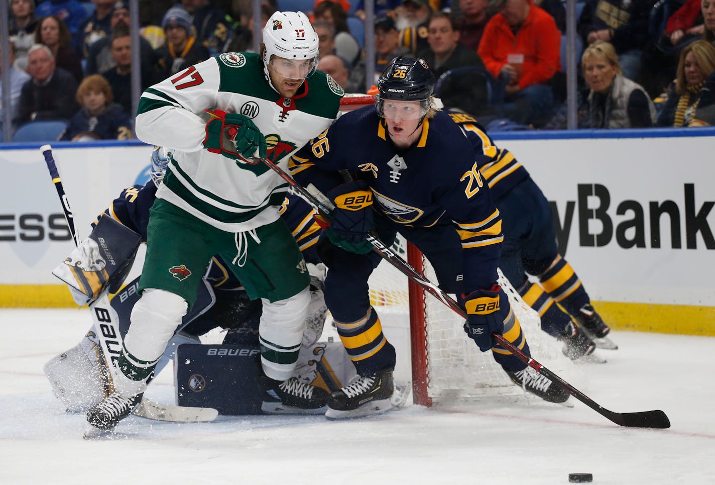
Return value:
[(502, 195), (515, 187), (529, 176), (529, 172), (514, 155), (506, 148), (497, 147), (486, 130), (470, 114), (447, 110), (452, 120), (459, 125), (479, 157), (479, 171), (489, 185), (492, 200), (498, 200)]

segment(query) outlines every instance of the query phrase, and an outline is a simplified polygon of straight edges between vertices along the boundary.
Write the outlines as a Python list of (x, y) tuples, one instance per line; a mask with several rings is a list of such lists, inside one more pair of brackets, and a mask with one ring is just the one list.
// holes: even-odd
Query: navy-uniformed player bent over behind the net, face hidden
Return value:
[[(470, 114), (446, 112), (462, 128), (474, 151), (486, 157), (477, 160), (502, 217), (499, 268), (538, 312), (541, 329), (563, 341), (563, 353), (571, 359), (593, 353), (594, 341), (601, 348), (616, 348), (606, 338), (610, 328), (593, 309), (581, 279), (558, 254), (551, 207), (526, 168), (511, 152), (497, 147)], [(527, 273), (536, 276), (538, 283), (529, 281)]]

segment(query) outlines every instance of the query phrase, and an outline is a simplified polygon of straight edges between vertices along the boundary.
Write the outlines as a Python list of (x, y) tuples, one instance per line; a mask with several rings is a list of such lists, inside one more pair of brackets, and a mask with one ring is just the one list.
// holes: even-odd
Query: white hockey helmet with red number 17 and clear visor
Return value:
[[(310, 67), (302, 79), (310, 77), (317, 67), (317, 34), (302, 11), (277, 11), (263, 28), (263, 72), (275, 89), (268, 74), (271, 56), (283, 59), (310, 60)], [(279, 74), (283, 75), (279, 72)], [(285, 76), (289, 77), (289, 76)]]

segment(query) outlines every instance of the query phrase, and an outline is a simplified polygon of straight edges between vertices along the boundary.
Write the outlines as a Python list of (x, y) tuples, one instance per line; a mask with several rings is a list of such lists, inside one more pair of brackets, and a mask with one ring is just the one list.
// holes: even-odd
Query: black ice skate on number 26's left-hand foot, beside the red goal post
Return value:
[(360, 418), (388, 411), (393, 407), (395, 383), (393, 369), (383, 369), (371, 376), (355, 376), (350, 384), (330, 394), (325, 417)]

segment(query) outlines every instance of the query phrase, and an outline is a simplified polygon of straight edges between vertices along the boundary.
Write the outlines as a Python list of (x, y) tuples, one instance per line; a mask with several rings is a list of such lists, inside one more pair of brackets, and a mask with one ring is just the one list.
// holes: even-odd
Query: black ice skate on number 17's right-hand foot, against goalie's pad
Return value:
[(286, 381), (264, 378), (265, 395), (261, 411), (267, 414), (325, 413), (328, 393), (292, 377)]

